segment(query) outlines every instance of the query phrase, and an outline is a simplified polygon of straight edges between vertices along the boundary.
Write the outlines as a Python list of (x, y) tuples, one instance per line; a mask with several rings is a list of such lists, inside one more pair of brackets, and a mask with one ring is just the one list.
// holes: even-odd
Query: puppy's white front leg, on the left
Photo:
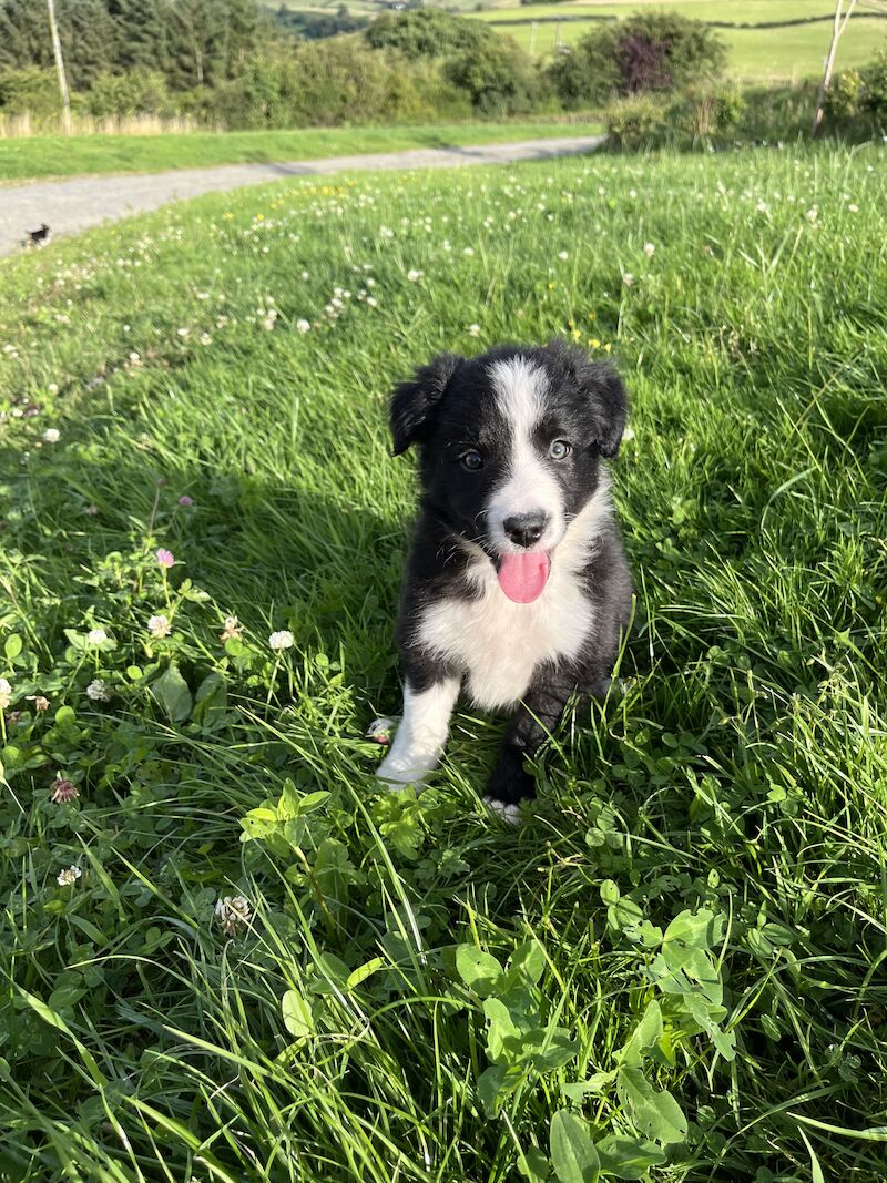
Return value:
[(407, 678), (403, 718), (391, 750), (376, 771), (381, 781), (391, 782), (390, 788), (421, 781), (436, 767), (447, 742), (449, 716), (459, 696), (460, 681), (447, 674), (417, 690)]

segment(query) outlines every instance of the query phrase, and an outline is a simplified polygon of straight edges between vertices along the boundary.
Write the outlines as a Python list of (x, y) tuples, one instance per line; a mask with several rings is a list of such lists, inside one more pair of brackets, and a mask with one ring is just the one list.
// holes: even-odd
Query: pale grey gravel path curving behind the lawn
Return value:
[(0, 256), (12, 254), (25, 232), (48, 222), (53, 234), (75, 234), (109, 219), (156, 209), (168, 201), (286, 176), (354, 173), (364, 169), (454, 168), (501, 164), (594, 151), (604, 136), (525, 140), (466, 148), (412, 148), (408, 151), (270, 164), (224, 164), (168, 173), (83, 176), (69, 181), (33, 181), (0, 188)]

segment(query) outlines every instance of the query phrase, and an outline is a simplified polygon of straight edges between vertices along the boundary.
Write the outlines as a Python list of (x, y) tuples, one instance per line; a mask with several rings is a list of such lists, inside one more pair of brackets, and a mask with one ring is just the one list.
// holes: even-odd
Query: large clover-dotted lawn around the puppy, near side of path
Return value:
[[(883, 1178), (885, 189), (824, 147), (363, 175), (7, 263), (0, 1178)], [(386, 399), (552, 334), (633, 393), (637, 613), (510, 829), (467, 707), (420, 797), (373, 780)]]

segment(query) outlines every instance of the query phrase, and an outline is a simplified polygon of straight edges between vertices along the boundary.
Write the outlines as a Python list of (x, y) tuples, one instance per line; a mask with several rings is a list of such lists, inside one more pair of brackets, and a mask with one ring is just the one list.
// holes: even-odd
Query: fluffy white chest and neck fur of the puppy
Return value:
[(416, 639), (466, 671), (466, 689), (478, 706), (514, 706), (540, 662), (569, 659), (580, 652), (594, 625), (594, 613), (577, 571), (585, 564), (600, 522), (608, 515), (609, 489), (602, 480), (551, 552), (549, 581), (531, 603), (509, 600), (490, 558), (479, 547), (465, 543), (472, 555), (468, 577), (479, 597), (448, 597), (429, 605)]

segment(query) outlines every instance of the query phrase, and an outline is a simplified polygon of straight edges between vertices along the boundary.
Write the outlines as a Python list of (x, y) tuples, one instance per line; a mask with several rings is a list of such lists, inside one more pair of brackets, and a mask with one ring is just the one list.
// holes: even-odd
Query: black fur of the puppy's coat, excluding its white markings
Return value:
[[(492, 563), (497, 552), (483, 506), (507, 476), (509, 429), (497, 406), (488, 367), (496, 361), (525, 358), (548, 377), (544, 414), (533, 435), (539, 455), (555, 439), (568, 438), (568, 460), (551, 464), (561, 484), (566, 519), (571, 521), (598, 487), (602, 458), (616, 455), (626, 425), (622, 382), (608, 363), (593, 362), (581, 349), (552, 341), (542, 348), (503, 345), (466, 360), (441, 354), (399, 386), (391, 400), (394, 451), (420, 446), (421, 503), (401, 595), (397, 642), (403, 673), (423, 691), (465, 671), (428, 652), (416, 639), (425, 609), (439, 599), (470, 601), (480, 593), (466, 578), (470, 555), (459, 538), (480, 547)], [(537, 439), (538, 437), (538, 439)], [(468, 472), (460, 457), (483, 450), (484, 467)], [(546, 461), (548, 463), (548, 461)], [(581, 652), (569, 661), (544, 662), (532, 673), (507, 728), (498, 763), (487, 787), (494, 801), (516, 803), (535, 796), (535, 782), (524, 767), (557, 724), (571, 694), (601, 693), (619, 652), (632, 603), (632, 581), (619, 526), (611, 515), (597, 526), (577, 580), (594, 607), (594, 627)], [(557, 549), (552, 551), (552, 564)], [(522, 644), (520, 636), (513, 644)]]

